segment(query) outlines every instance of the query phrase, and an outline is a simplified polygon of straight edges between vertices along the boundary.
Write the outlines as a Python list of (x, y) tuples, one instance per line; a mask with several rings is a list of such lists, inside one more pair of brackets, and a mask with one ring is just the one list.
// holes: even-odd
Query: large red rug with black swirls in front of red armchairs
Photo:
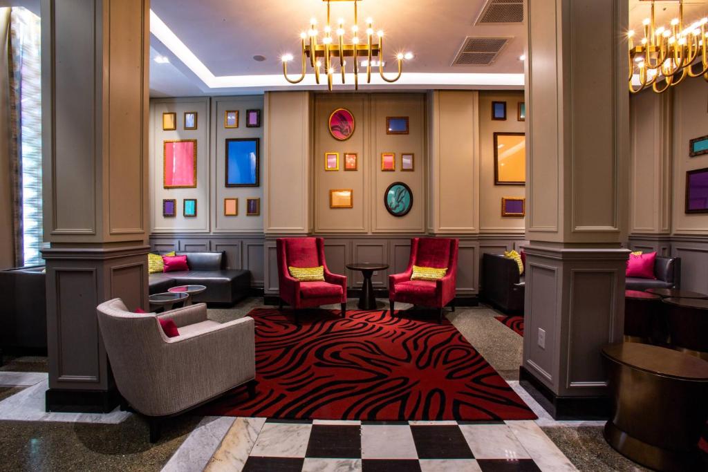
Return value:
[(445, 320), (383, 311), (254, 309), (256, 397), (204, 415), (321, 420), (526, 420), (536, 415)]

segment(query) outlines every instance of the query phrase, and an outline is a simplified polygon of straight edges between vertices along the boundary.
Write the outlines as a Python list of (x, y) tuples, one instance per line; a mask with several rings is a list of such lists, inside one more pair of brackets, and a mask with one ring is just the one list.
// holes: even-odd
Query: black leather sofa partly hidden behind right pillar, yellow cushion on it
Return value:
[(516, 261), (503, 254), (482, 256), (482, 299), (506, 313), (523, 313), (525, 282)]

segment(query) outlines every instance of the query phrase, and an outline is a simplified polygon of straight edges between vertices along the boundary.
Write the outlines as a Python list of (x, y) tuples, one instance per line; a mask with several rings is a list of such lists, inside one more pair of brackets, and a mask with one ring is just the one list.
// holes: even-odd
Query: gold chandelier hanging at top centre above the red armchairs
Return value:
[[(381, 78), (389, 83), (395, 82), (401, 78), (401, 72), (403, 71), (403, 61), (404, 59), (413, 59), (413, 54), (411, 52), (399, 52), (396, 54), (396, 62), (398, 63), (398, 74), (389, 79), (384, 75), (384, 32), (382, 30), (377, 31), (377, 43), (373, 42), (374, 28), (373, 20), (367, 18), (366, 20), (366, 30), (365, 30), (365, 42), (359, 38), (359, 24), (358, 24), (358, 10), (357, 2), (361, 0), (322, 0), (327, 2), (327, 23), (324, 25), (324, 37), (322, 38), (321, 44), (318, 43), (319, 32), (317, 30), (316, 18), (310, 20), (309, 30), (300, 33), (300, 39), (302, 40), (302, 74), (297, 79), (290, 79), (287, 76), (287, 63), (292, 61), (292, 54), (283, 54), (282, 59), (282, 74), (285, 79), (290, 82), (290, 84), (299, 84), (302, 79), (305, 78), (305, 73), (307, 69), (307, 58), (309, 57), (309, 63), (312, 69), (314, 69), (314, 79), (317, 84), (319, 84), (320, 69), (324, 65), (324, 73), (327, 76), (327, 86), (329, 90), (332, 90), (332, 79), (334, 75), (334, 63), (336, 59), (339, 58), (339, 70), (342, 76), (342, 84), (345, 84), (345, 74), (347, 62), (345, 57), (353, 58), (353, 72), (354, 72), (354, 88), (359, 89), (359, 57), (366, 57), (366, 82), (371, 83), (371, 67), (375, 65), (372, 62), (372, 57), (378, 57), (379, 74)], [(329, 3), (330, 1), (353, 1), (354, 2), (354, 23), (351, 27), (352, 37), (350, 42), (345, 42), (344, 36), (346, 31), (344, 30), (344, 19), (339, 18), (337, 21), (337, 28), (333, 29), (330, 25), (329, 18)], [(363, 64), (362, 64), (363, 65)]]

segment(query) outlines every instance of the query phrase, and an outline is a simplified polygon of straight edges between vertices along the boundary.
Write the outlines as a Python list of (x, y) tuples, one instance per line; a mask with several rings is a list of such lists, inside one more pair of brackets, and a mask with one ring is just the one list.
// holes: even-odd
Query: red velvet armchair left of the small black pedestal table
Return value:
[[(294, 309), (338, 303), (342, 306), (344, 316), (347, 305), (347, 277), (329, 272), (324, 260), (324, 239), (278, 238), (276, 244), (280, 308), (283, 301)], [(324, 282), (300, 282), (292, 277), (287, 269), (320, 265), (324, 266)]]

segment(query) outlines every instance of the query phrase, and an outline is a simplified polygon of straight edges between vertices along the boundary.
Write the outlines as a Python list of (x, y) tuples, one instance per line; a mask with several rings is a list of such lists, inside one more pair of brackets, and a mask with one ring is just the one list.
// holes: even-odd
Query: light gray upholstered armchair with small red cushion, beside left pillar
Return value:
[[(120, 299), (96, 311), (118, 391), (147, 416), (151, 442), (159, 439), (161, 417), (184, 413), (256, 376), (253, 318), (210, 321), (203, 303), (157, 316), (131, 313)], [(157, 318), (173, 320), (180, 335), (168, 338)], [(255, 393), (253, 382), (249, 391)]]

